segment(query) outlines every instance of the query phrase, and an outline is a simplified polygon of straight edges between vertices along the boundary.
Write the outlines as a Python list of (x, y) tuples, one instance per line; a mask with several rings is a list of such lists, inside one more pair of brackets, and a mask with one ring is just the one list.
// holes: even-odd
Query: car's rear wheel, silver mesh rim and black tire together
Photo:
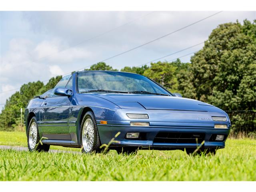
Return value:
[(36, 117), (32, 117), (28, 126), (28, 150), (38, 152), (48, 152), (50, 145), (40, 144), (40, 136)]

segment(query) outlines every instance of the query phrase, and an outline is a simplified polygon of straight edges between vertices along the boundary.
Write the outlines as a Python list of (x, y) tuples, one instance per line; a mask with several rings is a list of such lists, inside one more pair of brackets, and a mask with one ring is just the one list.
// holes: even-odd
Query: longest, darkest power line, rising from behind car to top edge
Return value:
[[(214, 14), (212, 14), (212, 15), (210, 15), (210, 16), (207, 16), (207, 17), (205, 17), (205, 18), (202, 18), (202, 19), (200, 19), (200, 20), (198, 20), (198, 21), (196, 21), (196, 22), (193, 22), (192, 24), (189, 24), (189, 25), (187, 25), (187, 26), (184, 26), (184, 27), (182, 27), (182, 28), (180, 28), (180, 29), (178, 29), (178, 30), (175, 30), (175, 31), (173, 31), (173, 32), (170, 32), (170, 33), (168, 33), (168, 34), (165, 34), (164, 36), (161, 36), (161, 37), (159, 37), (159, 38), (156, 38), (156, 39), (154, 39), (154, 40), (151, 40), (151, 41), (149, 41), (149, 42), (146, 42), (146, 43), (144, 43), (144, 44), (141, 44), (141, 45), (139, 45), (139, 46), (136, 46), (136, 47), (134, 47), (134, 48), (132, 48), (132, 49), (126, 50), (126, 51), (124, 51), (124, 52), (122, 52), (122, 53), (119, 53), (119, 54), (116, 54), (116, 55), (111, 56), (111, 57), (109, 57), (109, 58), (106, 58), (106, 59), (104, 59), (104, 60), (101, 60), (101, 61), (99, 61), (99, 62), (104, 62), (104, 61), (106, 61), (106, 60), (110, 60), (110, 59), (112, 59), (112, 58), (115, 58), (115, 57), (117, 57), (117, 56), (120, 56), (120, 55), (122, 55), (122, 54), (125, 54), (125, 53), (127, 53), (127, 52), (130, 52), (130, 51), (132, 51), (132, 50), (135, 50), (135, 49), (137, 49), (137, 48), (140, 48), (140, 47), (142, 47), (142, 46), (145, 46), (145, 45), (147, 45), (147, 44), (150, 44), (150, 43), (152, 43), (152, 42), (155, 42), (155, 41), (157, 41), (157, 40), (159, 40), (159, 39), (162, 39), (162, 38), (164, 38), (164, 37), (166, 37), (166, 36), (169, 36), (169, 35), (174, 34), (174, 33), (178, 32), (178, 31), (180, 31), (180, 30), (183, 30), (183, 29), (185, 29), (185, 28), (188, 28), (188, 27), (190, 27), (190, 26), (192, 26), (192, 25), (194, 25), (194, 24), (197, 24), (197, 23), (199, 23), (199, 22), (201, 22), (201, 21), (203, 21), (203, 20), (206, 20), (206, 19), (208, 19), (208, 18), (210, 18), (210, 17), (212, 17), (212, 16), (215, 16), (216, 14), (219, 14), (219, 13), (221, 13), (221, 12), (223, 12), (223, 11), (219, 11), (219, 12), (217, 12), (217, 13), (214, 13)], [(94, 64), (96, 64), (96, 63), (94, 63)], [(92, 65), (94, 65), (94, 64), (88, 65), (88, 66), (86, 66), (86, 67), (90, 67), (90, 66), (92, 66)], [(82, 70), (82, 69), (84, 69), (84, 68), (86, 68), (86, 67), (80, 68), (80, 69), (78, 69), (78, 70), (76, 70), (76, 71)], [(70, 74), (70, 73), (68, 73), (68, 74)], [(19, 89), (19, 88), (14, 89), (14, 90), (18, 90), (18, 89)], [(9, 91), (6, 91), (6, 92), (10, 92), (10, 91), (13, 91), (13, 90), (9, 90)], [(0, 94), (1, 94), (1, 93), (3, 93), (3, 92), (0, 92)]]

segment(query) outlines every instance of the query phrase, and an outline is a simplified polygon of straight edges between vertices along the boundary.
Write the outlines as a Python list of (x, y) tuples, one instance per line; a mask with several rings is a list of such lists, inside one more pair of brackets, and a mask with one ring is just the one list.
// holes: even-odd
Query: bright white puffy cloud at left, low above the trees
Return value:
[[(75, 70), (63, 70), (63, 67), (67, 68), (64, 66), (65, 63), (76, 62), (93, 55), (84, 48), (61, 51), (65, 48), (63, 44), (57, 40), (42, 41), (38, 44), (24, 38), (10, 40), (7, 51), (0, 57), (0, 92), (19, 88), (28, 82), (40, 80), (45, 83), (53, 76)], [(0, 103), (4, 103), (16, 91), (18, 90), (0, 93)]]

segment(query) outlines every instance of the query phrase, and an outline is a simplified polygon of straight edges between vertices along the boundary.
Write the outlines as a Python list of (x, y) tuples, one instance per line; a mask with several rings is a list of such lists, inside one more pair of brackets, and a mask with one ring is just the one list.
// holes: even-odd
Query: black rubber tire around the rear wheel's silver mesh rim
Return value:
[[(37, 134), (36, 134), (36, 146), (32, 148), (30, 146), (30, 142), (29, 142), (29, 133), (30, 133), (31, 125), (34, 124), (34, 123), (36, 124)], [(50, 145), (41, 144), (39, 141), (40, 141), (40, 136), (39, 136), (39, 131), (38, 131), (38, 125), (37, 125), (36, 117), (32, 117), (32, 119), (29, 122), (28, 134), (27, 134), (28, 150), (29, 151), (37, 151), (37, 152), (48, 152), (49, 149), (50, 149)]]

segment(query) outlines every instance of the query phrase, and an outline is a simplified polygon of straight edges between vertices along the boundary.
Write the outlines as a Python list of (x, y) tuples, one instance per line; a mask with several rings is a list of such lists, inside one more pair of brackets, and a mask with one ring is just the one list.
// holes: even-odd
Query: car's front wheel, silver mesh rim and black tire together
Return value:
[(101, 152), (100, 137), (94, 114), (90, 111), (86, 112), (81, 124), (81, 145), (82, 152), (92, 153)]

